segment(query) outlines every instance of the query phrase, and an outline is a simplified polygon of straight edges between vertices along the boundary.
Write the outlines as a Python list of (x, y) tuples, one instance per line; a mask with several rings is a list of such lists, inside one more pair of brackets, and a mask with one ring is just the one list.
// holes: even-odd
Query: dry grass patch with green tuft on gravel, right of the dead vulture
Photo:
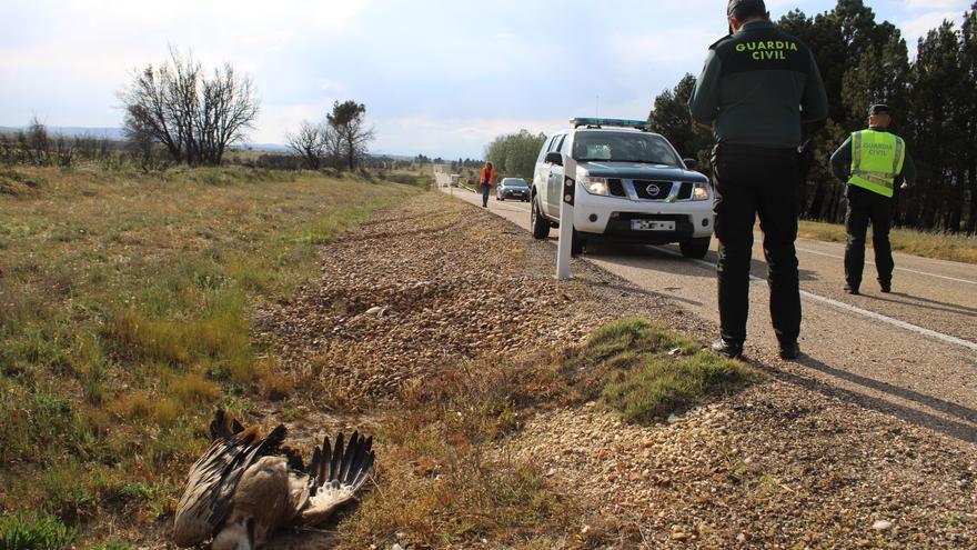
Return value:
[(377, 486), (338, 529), (340, 548), (618, 543), (621, 526), (593, 517), (537, 464), (490, 452), (495, 442), (541, 408), (601, 400), (631, 421), (653, 422), (762, 379), (641, 319), (602, 327), (580, 348), (446, 368), (406, 387), (402, 408), (379, 422)]

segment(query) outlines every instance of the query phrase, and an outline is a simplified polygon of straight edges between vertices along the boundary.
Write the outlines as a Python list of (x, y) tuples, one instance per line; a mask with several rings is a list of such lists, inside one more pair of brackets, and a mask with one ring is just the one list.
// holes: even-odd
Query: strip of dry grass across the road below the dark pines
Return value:
[[(868, 230), (867, 244), (872, 246), (872, 229)], [(799, 237), (828, 242), (845, 242), (845, 226), (802, 221)], [(913, 229), (893, 229), (889, 233), (893, 250), (907, 254), (977, 263), (977, 237), (964, 234), (931, 233)]]

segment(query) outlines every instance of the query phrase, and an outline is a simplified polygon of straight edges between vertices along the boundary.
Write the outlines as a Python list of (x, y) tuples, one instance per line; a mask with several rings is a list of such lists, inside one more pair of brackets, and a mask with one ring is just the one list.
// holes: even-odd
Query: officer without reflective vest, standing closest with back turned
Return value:
[(709, 47), (689, 99), (693, 119), (713, 124), (713, 178), (719, 323), (718, 353), (737, 358), (746, 340), (749, 268), (757, 213), (780, 357), (798, 356), (797, 276), (802, 122), (827, 116), (827, 94), (810, 50), (770, 22), (763, 0), (731, 0), (731, 34)]

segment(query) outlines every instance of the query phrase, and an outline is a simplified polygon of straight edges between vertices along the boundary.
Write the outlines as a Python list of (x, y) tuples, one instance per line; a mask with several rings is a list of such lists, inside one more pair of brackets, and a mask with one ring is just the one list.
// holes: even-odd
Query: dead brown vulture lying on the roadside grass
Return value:
[(354, 432), (343, 444), (326, 437), (306, 468), (282, 447), (285, 427), (265, 437), (218, 410), (210, 449), (193, 464), (177, 506), (173, 541), (179, 547), (213, 538), (213, 550), (253, 550), (285, 526), (315, 526), (353, 500), (373, 468), (373, 438)]

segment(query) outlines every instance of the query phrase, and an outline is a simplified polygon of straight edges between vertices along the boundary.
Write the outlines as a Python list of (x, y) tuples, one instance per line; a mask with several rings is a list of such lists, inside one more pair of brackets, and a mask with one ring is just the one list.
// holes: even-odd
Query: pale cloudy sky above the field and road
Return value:
[[(833, 0), (767, 0), (776, 19)], [(910, 50), (970, 0), (872, 0)], [(0, 0), (0, 126), (119, 127), (117, 92), (170, 44), (229, 61), (261, 98), (253, 142), (335, 100), (366, 104), (374, 151), (481, 157), (500, 133), (573, 116), (645, 118), (698, 73), (726, 0)], [(598, 99), (600, 98), (600, 99)]]

